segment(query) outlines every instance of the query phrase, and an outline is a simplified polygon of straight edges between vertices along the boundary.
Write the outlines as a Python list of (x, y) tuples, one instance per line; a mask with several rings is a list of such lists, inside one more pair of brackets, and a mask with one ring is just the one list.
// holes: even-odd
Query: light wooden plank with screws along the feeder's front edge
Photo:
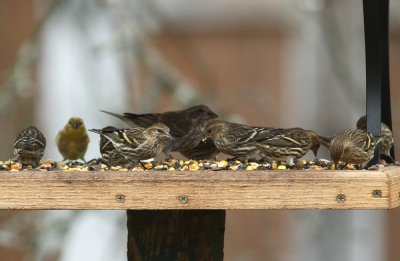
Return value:
[(1, 172), (0, 209), (390, 209), (400, 205), (399, 176), (400, 167)]

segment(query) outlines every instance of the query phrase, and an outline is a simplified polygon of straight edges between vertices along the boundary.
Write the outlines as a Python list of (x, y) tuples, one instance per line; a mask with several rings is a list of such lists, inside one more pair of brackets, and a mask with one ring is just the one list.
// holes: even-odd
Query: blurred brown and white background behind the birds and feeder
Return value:
[[(99, 110), (206, 104), (223, 119), (326, 136), (365, 114), (361, 0), (6, 0), (0, 35), (2, 160), (30, 124), (55, 160), (71, 116), (124, 127)], [(396, 141), (399, 67), (400, 2), (391, 1)], [(90, 135), (87, 160), (100, 156)], [(399, 246), (398, 209), (227, 212), (225, 260), (400, 260)], [(0, 256), (126, 260), (125, 212), (0, 211)]]

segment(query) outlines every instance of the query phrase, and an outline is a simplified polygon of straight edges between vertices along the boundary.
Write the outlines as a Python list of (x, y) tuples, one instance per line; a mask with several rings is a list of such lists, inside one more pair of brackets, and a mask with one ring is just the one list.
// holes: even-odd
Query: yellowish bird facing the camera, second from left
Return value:
[(64, 157), (64, 160), (85, 161), (85, 153), (89, 144), (89, 136), (86, 131), (83, 120), (78, 117), (72, 117), (60, 130), (56, 137), (58, 151)]

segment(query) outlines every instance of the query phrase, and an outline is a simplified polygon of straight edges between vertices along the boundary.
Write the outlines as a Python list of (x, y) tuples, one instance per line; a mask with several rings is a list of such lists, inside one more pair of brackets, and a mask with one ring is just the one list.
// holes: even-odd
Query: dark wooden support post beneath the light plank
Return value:
[(128, 261), (223, 260), (225, 210), (128, 210)]

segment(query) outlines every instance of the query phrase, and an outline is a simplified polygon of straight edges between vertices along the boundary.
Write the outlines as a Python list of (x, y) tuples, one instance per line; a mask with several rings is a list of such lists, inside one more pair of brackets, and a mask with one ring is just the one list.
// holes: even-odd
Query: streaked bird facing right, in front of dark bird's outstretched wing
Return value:
[(166, 140), (171, 138), (169, 128), (162, 123), (155, 123), (148, 128), (89, 131), (108, 139), (127, 160), (139, 162), (157, 156), (164, 148)]

